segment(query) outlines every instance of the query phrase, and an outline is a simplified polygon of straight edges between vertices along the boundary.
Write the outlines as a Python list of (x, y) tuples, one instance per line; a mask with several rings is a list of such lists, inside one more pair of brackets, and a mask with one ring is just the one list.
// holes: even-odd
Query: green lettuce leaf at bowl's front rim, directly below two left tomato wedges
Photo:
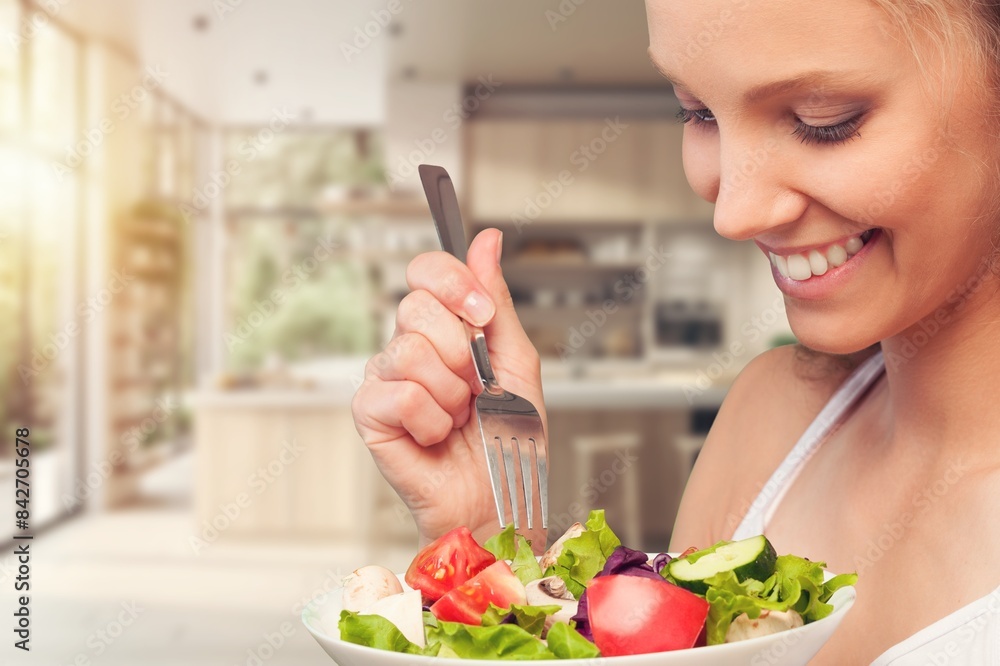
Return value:
[(442, 646), (438, 656), (454, 653), (463, 659), (518, 661), (556, 658), (545, 643), (515, 624), (476, 627), (458, 622), (440, 622), (436, 628), (427, 630), (427, 642), (431, 646)]

